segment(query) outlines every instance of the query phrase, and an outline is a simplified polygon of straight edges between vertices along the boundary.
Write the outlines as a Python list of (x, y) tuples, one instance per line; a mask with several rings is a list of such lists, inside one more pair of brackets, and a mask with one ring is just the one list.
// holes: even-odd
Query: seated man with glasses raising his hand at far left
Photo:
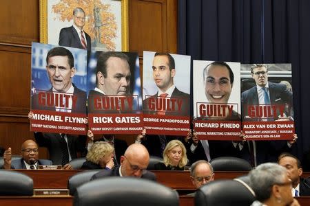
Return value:
[[(8, 148), (3, 155), (4, 169), (26, 169), (37, 170), (39, 165), (52, 165), (52, 161), (39, 159), (38, 145), (35, 141), (28, 139), (21, 145), (21, 159), (12, 161), (12, 149)], [(63, 169), (70, 170), (71, 165), (63, 166)]]

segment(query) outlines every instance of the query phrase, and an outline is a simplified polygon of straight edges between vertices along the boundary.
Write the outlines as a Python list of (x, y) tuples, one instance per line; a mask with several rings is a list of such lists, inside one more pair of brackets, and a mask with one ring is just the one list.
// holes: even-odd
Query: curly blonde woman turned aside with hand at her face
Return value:
[(114, 147), (105, 141), (96, 141), (86, 155), (81, 170), (110, 170), (114, 167)]

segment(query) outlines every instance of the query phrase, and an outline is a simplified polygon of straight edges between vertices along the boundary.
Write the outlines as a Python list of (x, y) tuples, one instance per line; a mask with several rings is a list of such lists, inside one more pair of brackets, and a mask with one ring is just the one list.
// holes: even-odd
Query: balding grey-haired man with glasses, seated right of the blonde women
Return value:
[[(212, 165), (205, 160), (198, 160), (191, 166), (191, 181), (193, 185), (198, 189), (202, 185), (214, 181), (214, 171)], [(189, 196), (195, 196), (195, 192), (187, 194)]]

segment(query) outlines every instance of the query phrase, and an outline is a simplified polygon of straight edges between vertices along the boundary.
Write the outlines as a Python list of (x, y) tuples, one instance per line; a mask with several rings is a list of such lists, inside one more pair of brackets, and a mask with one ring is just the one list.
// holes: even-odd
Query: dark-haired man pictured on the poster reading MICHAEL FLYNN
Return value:
[[(52, 87), (45, 93), (32, 95), (32, 109), (86, 113), (86, 93), (72, 83), (76, 74), (72, 53), (64, 47), (50, 49), (46, 56), (46, 71)], [(50, 98), (53, 104), (48, 102)]]

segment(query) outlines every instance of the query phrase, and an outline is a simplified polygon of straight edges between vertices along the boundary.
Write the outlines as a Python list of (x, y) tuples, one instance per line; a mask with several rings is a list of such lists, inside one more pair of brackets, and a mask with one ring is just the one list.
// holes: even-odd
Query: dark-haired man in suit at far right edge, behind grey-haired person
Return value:
[(292, 181), (293, 188), (291, 193), (293, 196), (309, 196), (310, 195), (310, 180), (303, 179), (302, 165), (294, 155), (288, 152), (284, 152), (279, 156), (278, 163), (287, 168), (289, 172), (289, 178)]

